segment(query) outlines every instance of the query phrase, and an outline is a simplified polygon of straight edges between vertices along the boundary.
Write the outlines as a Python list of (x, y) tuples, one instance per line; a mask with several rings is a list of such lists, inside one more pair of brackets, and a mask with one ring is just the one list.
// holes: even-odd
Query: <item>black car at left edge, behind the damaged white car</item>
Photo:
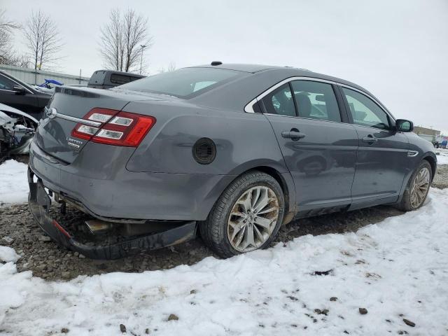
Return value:
[(42, 92), (8, 73), (0, 71), (0, 103), (40, 119), (43, 108), (48, 104), (50, 98), (51, 94)]

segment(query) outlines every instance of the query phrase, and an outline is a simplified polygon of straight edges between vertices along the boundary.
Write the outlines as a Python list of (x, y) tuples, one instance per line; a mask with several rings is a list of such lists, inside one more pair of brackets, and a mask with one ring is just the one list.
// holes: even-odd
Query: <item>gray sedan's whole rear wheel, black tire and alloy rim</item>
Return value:
[(222, 258), (269, 246), (283, 221), (283, 190), (270, 175), (253, 171), (226, 188), (200, 234)]

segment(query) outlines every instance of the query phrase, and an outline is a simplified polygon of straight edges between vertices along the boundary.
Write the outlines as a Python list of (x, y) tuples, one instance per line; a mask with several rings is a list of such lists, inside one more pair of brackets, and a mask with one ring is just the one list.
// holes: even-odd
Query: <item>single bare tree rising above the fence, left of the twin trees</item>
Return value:
[(60, 58), (57, 54), (62, 43), (56, 24), (41, 10), (31, 13), (25, 26), (25, 38), (34, 69), (51, 68)]

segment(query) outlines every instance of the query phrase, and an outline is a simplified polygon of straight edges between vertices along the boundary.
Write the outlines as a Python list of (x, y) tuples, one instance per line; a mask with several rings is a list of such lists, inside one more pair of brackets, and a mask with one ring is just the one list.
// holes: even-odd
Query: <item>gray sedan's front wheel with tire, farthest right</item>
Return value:
[(428, 196), (430, 183), (433, 181), (433, 170), (428, 161), (422, 160), (416, 167), (409, 182), (398, 209), (402, 211), (413, 211), (419, 209)]

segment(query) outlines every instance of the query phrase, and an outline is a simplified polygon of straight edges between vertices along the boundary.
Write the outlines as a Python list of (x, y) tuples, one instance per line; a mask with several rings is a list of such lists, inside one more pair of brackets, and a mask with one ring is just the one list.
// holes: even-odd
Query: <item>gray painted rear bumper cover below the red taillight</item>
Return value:
[[(92, 155), (99, 153), (102, 158)], [(109, 152), (108, 152), (109, 151)], [(70, 165), (31, 143), (29, 167), (43, 186), (106, 221), (204, 221), (234, 175), (130, 172), (132, 148), (89, 143)]]

